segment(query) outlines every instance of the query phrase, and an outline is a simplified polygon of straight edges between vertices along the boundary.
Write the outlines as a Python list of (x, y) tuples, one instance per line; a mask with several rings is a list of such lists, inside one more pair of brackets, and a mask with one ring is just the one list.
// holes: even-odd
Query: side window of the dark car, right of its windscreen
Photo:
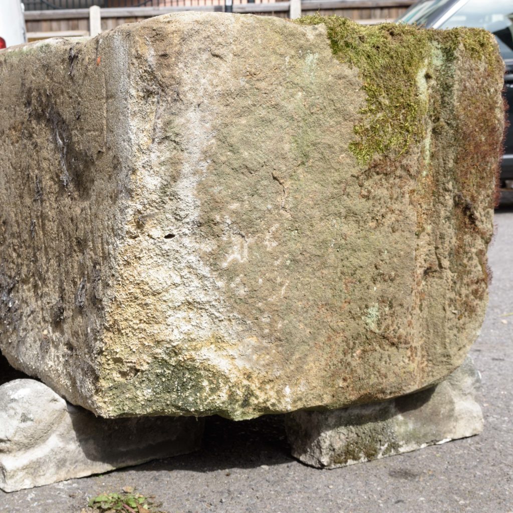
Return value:
[(492, 32), (502, 57), (513, 59), (513, 2), (511, 0), (469, 0), (440, 28), (477, 27)]

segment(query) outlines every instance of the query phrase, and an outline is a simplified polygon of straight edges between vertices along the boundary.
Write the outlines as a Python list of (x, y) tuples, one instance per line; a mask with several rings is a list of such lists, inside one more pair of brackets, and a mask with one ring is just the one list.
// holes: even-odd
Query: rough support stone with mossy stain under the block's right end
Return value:
[(470, 358), (442, 383), (390, 401), (287, 416), (292, 455), (337, 468), (422, 449), (483, 430), (481, 383)]

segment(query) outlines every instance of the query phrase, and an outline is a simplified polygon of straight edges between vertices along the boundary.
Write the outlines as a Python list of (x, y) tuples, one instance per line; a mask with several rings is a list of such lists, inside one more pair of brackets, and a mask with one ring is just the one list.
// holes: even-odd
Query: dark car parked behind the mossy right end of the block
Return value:
[(505, 94), (511, 106), (504, 142), (501, 187), (513, 188), (513, 0), (420, 0), (398, 22), (439, 29), (478, 27), (495, 35), (506, 64)]

